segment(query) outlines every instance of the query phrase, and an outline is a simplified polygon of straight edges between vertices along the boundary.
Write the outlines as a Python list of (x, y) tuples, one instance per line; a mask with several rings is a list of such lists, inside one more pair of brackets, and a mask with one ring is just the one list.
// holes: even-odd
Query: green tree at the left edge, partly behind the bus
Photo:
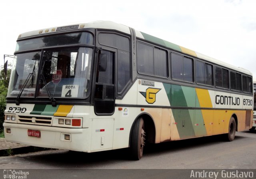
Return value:
[(4, 67), (0, 67), (0, 131), (3, 129), (4, 110), (6, 108), (6, 96), (10, 81), (11, 64), (8, 65), (7, 75), (4, 74)]

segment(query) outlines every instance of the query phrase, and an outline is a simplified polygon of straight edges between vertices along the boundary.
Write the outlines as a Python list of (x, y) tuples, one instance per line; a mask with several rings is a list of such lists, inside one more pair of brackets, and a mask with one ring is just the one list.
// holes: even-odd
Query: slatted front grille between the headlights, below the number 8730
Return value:
[(18, 116), (19, 123), (34, 124), (34, 125), (51, 125), (52, 117), (41, 117), (41, 116)]

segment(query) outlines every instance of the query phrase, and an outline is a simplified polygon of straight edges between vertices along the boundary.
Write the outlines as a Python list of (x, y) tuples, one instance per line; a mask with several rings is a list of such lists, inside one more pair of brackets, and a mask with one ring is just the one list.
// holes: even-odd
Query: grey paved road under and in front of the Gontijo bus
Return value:
[(256, 132), (238, 132), (232, 142), (212, 136), (150, 145), (140, 161), (127, 153), (40, 151), (0, 157), (0, 169), (256, 169)]

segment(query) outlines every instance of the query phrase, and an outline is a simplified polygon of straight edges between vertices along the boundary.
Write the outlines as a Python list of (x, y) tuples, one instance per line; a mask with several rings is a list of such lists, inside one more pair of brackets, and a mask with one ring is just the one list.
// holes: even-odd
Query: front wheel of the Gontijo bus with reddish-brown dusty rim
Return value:
[(132, 127), (131, 133), (131, 157), (134, 160), (141, 159), (143, 155), (143, 149), (145, 145), (145, 131), (144, 131), (144, 120), (139, 118), (135, 121), (134, 126)]

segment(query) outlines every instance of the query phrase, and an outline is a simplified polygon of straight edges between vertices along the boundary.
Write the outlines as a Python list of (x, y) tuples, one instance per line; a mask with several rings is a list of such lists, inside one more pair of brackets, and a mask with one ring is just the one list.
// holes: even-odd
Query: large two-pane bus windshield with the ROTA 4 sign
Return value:
[[(16, 56), (8, 97), (17, 97), (29, 76), (31, 77), (20, 97), (34, 97), (36, 86), (38, 86), (36, 97), (49, 97), (48, 92), (53, 97), (84, 98), (88, 96), (91, 48), (44, 50)], [(42, 62), (38, 69), (41, 56)]]

